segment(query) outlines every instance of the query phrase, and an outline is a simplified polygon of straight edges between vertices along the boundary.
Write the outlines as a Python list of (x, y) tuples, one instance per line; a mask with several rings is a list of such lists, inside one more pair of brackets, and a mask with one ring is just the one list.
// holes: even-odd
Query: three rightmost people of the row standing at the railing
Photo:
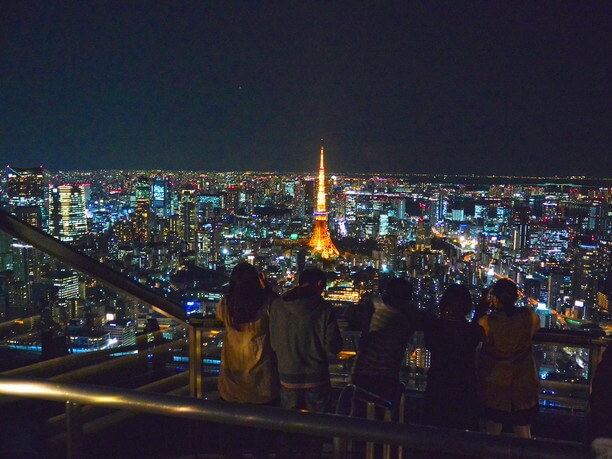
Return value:
[[(538, 410), (539, 382), (532, 355), (532, 337), (539, 317), (521, 308), (516, 284), (497, 281), (487, 292), (482, 316), (469, 319), (472, 298), (459, 284), (440, 299), (439, 317), (411, 306), (412, 286), (391, 280), (366, 313), (354, 382), (397, 402), (400, 368), (415, 330), (424, 333), (431, 363), (425, 390), (427, 424), (499, 434), (503, 425), (518, 437), (531, 436)], [(368, 318), (371, 317), (371, 318)]]

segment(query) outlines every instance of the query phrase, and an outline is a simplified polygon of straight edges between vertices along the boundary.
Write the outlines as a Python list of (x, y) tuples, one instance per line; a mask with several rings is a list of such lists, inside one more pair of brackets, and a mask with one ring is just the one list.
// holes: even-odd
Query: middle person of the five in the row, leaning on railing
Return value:
[(400, 369), (414, 324), (410, 318), (412, 284), (392, 279), (381, 296), (372, 298), (371, 314), (353, 366), (353, 383), (397, 405)]

